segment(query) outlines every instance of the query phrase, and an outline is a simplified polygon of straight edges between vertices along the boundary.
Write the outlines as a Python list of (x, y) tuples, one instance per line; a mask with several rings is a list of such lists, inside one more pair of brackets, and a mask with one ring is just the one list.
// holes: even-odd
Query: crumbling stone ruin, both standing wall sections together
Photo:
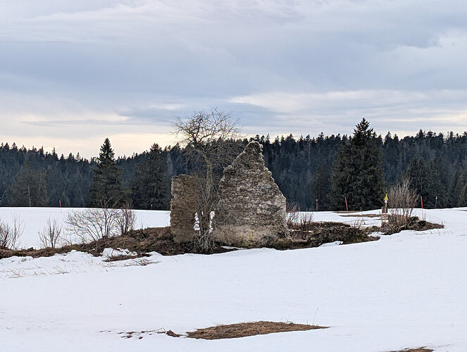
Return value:
[[(219, 202), (213, 236), (229, 246), (268, 246), (288, 234), (285, 196), (274, 182), (263, 159), (263, 146), (250, 142), (224, 169), (219, 184)], [(172, 179), (170, 232), (177, 242), (194, 238), (197, 197), (194, 178), (179, 175)]]

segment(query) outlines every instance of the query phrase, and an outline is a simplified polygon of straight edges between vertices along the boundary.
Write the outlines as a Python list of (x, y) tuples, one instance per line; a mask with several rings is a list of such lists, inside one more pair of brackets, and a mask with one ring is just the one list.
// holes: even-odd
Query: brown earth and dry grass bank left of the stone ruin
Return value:
[[(33, 258), (54, 256), (57, 253), (68, 253), (70, 251), (82, 251), (91, 253), (93, 256), (101, 256), (106, 248), (128, 249), (136, 252), (137, 258), (147, 256), (146, 253), (156, 251), (163, 256), (175, 256), (184, 253), (201, 253), (193, 244), (177, 244), (170, 235), (170, 227), (149, 227), (144, 230), (135, 230), (123, 236), (110, 237), (92, 241), (89, 244), (73, 244), (72, 246), (63, 246), (58, 249), (22, 249), (19, 251), (11, 249), (0, 249), (0, 259), (11, 256), (31, 256)], [(220, 245), (213, 247), (211, 253), (223, 253), (232, 251), (225, 249)], [(124, 260), (128, 258), (117, 258)]]

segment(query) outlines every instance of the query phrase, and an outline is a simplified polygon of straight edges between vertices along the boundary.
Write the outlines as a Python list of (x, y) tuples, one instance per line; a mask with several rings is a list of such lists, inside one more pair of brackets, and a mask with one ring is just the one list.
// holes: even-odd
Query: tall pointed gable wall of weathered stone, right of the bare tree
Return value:
[(264, 246), (288, 233), (285, 196), (264, 165), (263, 147), (250, 142), (224, 169), (214, 236), (230, 246)]

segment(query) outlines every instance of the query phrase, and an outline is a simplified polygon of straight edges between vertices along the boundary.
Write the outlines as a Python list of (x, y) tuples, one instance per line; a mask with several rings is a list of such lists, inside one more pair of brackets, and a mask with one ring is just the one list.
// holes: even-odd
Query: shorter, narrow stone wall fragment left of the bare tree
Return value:
[(192, 241), (194, 238), (194, 215), (197, 211), (197, 184), (194, 177), (178, 175), (172, 177), (172, 196), (170, 203), (170, 233), (178, 243)]

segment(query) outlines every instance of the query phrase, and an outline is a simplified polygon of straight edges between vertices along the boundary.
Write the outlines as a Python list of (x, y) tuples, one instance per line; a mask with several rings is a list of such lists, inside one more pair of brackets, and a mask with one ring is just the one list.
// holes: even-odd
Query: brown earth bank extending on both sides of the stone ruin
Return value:
[[(361, 215), (356, 216), (361, 217)], [(299, 223), (290, 222), (290, 236), (284, 235), (280, 238), (273, 238), (268, 247), (275, 249), (300, 249), (317, 247), (321, 244), (335, 241), (342, 241), (342, 244), (352, 244), (378, 240), (379, 237), (368, 236), (373, 232), (394, 234), (403, 230), (425, 231), (441, 229), (443, 227), (444, 225), (419, 220), (416, 217), (413, 218), (408, 226), (404, 227), (391, 226), (390, 222), (383, 222), (382, 227), (361, 227), (358, 222), (355, 225), (348, 225), (342, 222), (313, 222), (312, 220), (307, 220)], [(102, 251), (106, 248), (127, 249), (136, 253), (136, 256), (116, 256), (109, 258), (108, 261), (144, 257), (147, 256), (148, 252), (152, 251), (161, 253), (163, 256), (175, 256), (184, 253), (211, 254), (235, 250), (233, 248), (225, 248), (221, 244), (215, 244), (208, 253), (201, 252), (194, 244), (178, 244), (173, 241), (170, 227), (149, 227), (144, 230), (131, 231), (123, 236), (99, 239), (89, 244), (73, 244), (56, 249), (30, 248), (17, 251), (0, 247), (0, 259), (11, 256), (49, 257), (57, 253), (69, 253), (73, 250), (91, 253), (93, 256), (101, 256)]]

